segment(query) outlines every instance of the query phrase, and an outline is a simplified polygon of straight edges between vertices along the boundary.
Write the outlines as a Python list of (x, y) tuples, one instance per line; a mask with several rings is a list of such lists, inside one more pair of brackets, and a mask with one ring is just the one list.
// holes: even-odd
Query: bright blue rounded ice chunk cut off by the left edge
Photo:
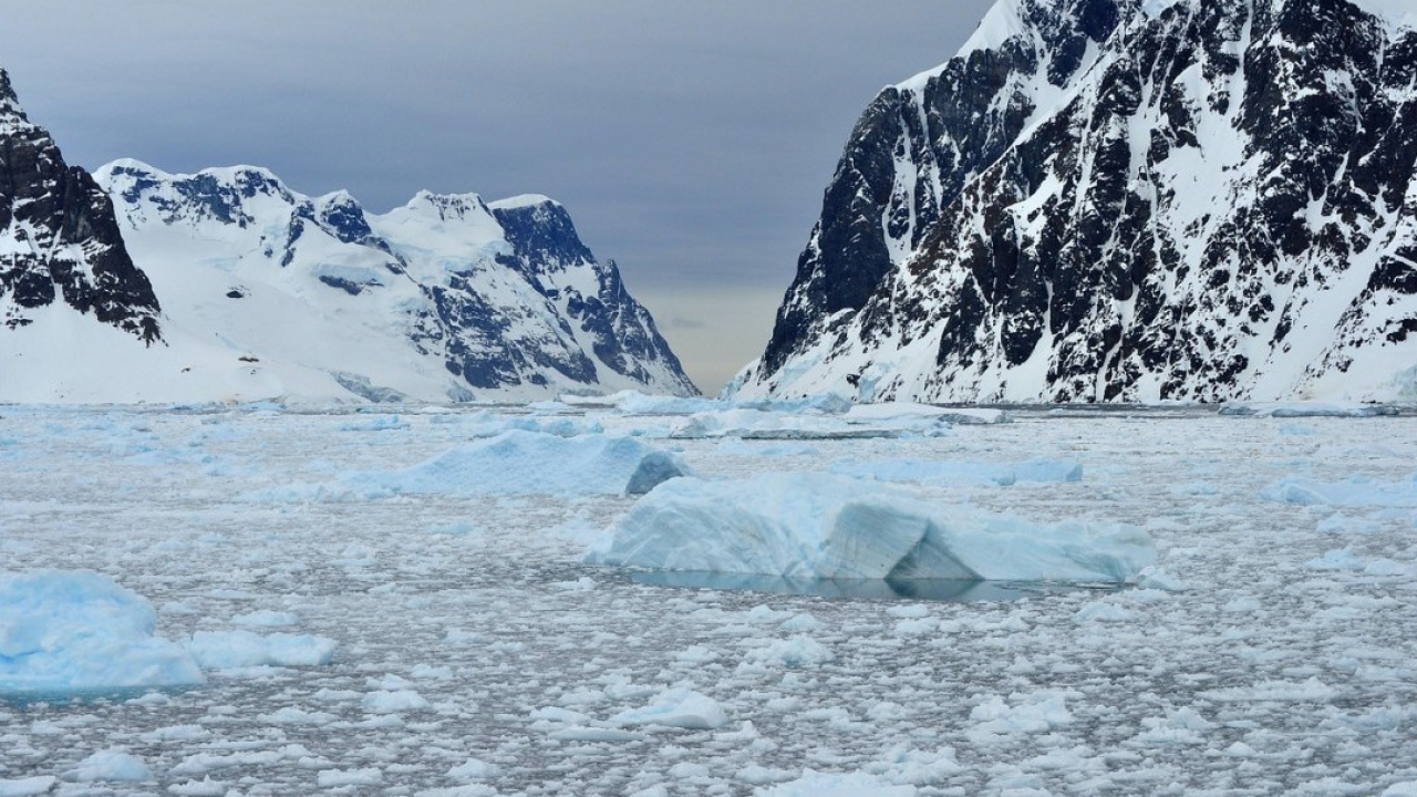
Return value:
[(156, 625), (146, 598), (91, 570), (0, 574), (0, 693), (204, 684)]

